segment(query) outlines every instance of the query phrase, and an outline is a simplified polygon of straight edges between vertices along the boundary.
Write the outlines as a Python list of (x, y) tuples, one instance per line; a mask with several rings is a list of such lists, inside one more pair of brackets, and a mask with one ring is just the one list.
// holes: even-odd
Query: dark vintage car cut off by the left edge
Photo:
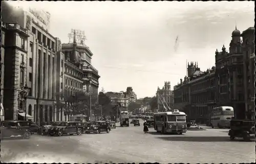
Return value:
[(6, 138), (25, 138), (31, 136), (29, 121), (2, 121), (1, 122), (1, 139)]

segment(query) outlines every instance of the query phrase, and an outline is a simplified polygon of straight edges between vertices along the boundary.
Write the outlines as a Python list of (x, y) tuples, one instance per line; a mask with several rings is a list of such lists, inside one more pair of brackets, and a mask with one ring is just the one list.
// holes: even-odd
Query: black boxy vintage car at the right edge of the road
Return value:
[(241, 137), (245, 141), (255, 137), (255, 122), (249, 120), (231, 120), (228, 135), (230, 140)]

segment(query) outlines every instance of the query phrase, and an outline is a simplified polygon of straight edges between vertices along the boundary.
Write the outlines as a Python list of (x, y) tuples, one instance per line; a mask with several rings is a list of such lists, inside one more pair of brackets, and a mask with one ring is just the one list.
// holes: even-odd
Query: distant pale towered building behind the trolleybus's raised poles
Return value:
[[(160, 89), (159, 87), (157, 88), (157, 93), (156, 93), (156, 97), (157, 97), (157, 106), (158, 106), (158, 110), (159, 111), (164, 111), (164, 106), (163, 106), (163, 102), (161, 102), (159, 96), (161, 96), (164, 101), (167, 103), (167, 105), (170, 108), (173, 108), (174, 105), (174, 96), (173, 96), (173, 90), (170, 89), (170, 82), (169, 81), (165, 81), (164, 82), (164, 86), (162, 89)], [(164, 103), (165, 105), (165, 103)]]

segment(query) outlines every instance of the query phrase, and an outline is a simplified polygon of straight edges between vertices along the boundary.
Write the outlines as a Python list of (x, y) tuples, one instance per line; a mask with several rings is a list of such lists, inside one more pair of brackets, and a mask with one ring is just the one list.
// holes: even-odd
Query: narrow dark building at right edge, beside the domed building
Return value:
[(247, 119), (254, 118), (254, 95), (255, 95), (255, 54), (254, 54), (254, 27), (250, 27), (243, 31), (241, 36), (243, 37), (242, 52), (244, 57), (244, 96), (245, 96), (245, 116)]

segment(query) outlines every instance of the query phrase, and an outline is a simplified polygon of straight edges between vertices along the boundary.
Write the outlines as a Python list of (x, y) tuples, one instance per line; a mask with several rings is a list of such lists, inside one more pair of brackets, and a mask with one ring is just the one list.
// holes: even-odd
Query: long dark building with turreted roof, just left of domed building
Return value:
[(215, 107), (215, 67), (200, 71), (197, 63), (187, 65), (184, 81), (174, 86), (174, 108), (187, 114), (188, 119), (206, 120), (208, 111)]

